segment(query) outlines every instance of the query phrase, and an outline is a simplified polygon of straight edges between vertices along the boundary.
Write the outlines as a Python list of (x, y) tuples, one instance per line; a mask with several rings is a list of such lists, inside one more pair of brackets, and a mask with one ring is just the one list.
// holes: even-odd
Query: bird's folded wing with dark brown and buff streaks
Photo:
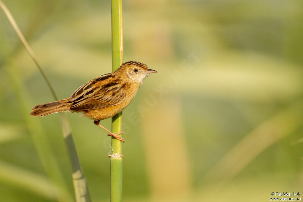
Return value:
[(103, 109), (120, 104), (125, 98), (125, 84), (112, 73), (99, 76), (80, 86), (69, 98), (71, 110)]

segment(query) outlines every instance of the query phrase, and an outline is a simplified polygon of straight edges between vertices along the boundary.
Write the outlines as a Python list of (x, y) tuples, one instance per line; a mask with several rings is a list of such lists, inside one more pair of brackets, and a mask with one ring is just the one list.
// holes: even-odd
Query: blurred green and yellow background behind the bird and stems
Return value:
[[(111, 71), (109, 1), (4, 3), (60, 98)], [(302, 192), (302, 22), (301, 0), (123, 2), (123, 61), (159, 72), (123, 111), (124, 201)], [(0, 80), (1, 201), (73, 200), (58, 114), (28, 115), (52, 95), (2, 11)], [(110, 137), (67, 116), (92, 201), (108, 201)]]

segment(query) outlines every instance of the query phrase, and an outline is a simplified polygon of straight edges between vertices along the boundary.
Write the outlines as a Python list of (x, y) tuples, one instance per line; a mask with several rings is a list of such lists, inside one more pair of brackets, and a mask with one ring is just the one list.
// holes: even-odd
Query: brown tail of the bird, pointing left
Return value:
[(72, 103), (68, 102), (68, 98), (45, 104), (38, 104), (32, 108), (32, 112), (29, 115), (34, 117), (46, 116), (48, 114), (68, 110), (71, 105)]

